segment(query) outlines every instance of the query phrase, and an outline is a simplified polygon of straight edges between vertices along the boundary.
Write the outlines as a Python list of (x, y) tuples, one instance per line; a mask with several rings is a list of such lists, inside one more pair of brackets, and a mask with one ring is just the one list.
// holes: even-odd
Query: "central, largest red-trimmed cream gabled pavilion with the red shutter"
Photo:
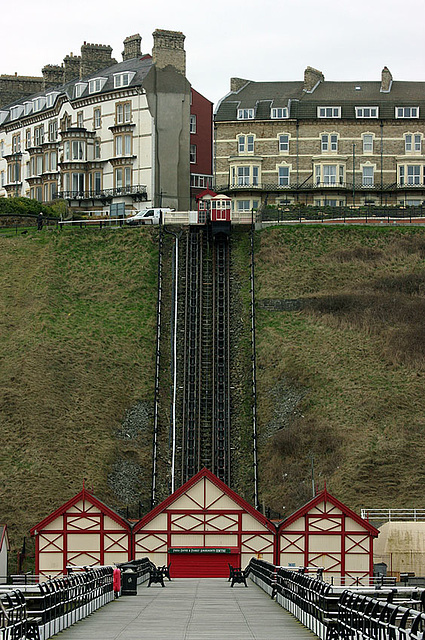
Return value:
[(208, 469), (201, 469), (134, 527), (134, 558), (171, 562), (179, 578), (228, 577), (229, 564), (274, 562), (275, 526)]

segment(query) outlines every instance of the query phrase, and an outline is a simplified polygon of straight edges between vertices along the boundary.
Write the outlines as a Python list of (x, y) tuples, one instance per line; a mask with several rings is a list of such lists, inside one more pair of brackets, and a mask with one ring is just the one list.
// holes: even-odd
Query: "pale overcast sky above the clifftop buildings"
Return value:
[[(9, 12), (9, 16), (7, 13)], [(0, 74), (41, 75), (45, 64), (155, 29), (182, 31), (187, 77), (212, 102), (230, 78), (302, 80), (310, 65), (326, 80), (425, 81), (425, 0), (20, 0), (2, 11)]]

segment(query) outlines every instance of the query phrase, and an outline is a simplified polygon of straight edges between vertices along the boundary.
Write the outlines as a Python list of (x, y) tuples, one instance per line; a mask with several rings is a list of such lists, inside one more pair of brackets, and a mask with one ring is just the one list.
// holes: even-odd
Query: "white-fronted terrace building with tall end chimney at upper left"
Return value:
[[(63, 198), (80, 211), (101, 213), (111, 204), (126, 213), (145, 206), (190, 208), (191, 168), (197, 174), (192, 184), (212, 179), (211, 103), (196, 93), (192, 106), (185, 36), (156, 30), (153, 39), (150, 55), (141, 53), (139, 35), (126, 38), (120, 63), (110, 47), (83, 45), (82, 56), (73, 57), (74, 71), (68, 64), (52, 77), (73, 73), (72, 80), (0, 109), (2, 195)], [(108, 66), (99, 70), (100, 59), (83, 64), (87, 47)], [(197, 152), (209, 154), (202, 180)]]

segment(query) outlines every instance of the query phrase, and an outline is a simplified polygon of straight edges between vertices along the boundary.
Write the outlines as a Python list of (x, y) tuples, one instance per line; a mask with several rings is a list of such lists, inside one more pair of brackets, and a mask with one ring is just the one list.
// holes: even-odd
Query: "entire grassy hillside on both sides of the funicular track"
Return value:
[[(255, 241), (261, 502), (290, 513), (314, 475), (352, 508), (423, 506), (425, 232), (288, 226)], [(0, 254), (0, 522), (20, 545), (83, 478), (137, 515), (151, 482), (157, 230), (30, 231), (0, 237)], [(235, 482), (249, 499), (247, 233), (232, 255)]]

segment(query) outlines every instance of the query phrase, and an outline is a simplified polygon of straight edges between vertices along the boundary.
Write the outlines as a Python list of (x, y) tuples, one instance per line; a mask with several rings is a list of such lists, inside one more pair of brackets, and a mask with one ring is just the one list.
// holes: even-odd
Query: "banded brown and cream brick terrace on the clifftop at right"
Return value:
[(231, 79), (215, 111), (215, 189), (266, 204), (421, 205), (425, 82)]

